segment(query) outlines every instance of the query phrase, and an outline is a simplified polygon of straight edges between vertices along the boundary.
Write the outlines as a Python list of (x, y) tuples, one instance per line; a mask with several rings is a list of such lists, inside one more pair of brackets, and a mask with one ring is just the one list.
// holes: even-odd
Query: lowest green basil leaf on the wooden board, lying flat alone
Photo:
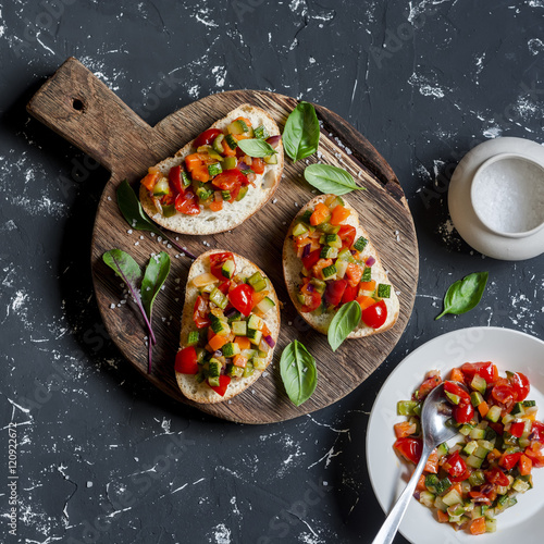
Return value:
[(306, 403), (318, 385), (316, 359), (298, 341), (293, 341), (283, 350), (280, 373), (285, 391), (295, 406)]

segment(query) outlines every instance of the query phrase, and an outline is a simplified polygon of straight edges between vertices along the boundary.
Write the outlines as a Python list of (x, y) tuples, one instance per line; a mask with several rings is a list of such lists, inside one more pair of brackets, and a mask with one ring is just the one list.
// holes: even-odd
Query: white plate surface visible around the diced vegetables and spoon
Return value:
[[(526, 359), (521, 362), (519, 353)], [(534, 358), (534, 361), (533, 359)], [(405, 418), (396, 415), (396, 403), (409, 398), (426, 371), (446, 371), (467, 361), (493, 360), (502, 375), (506, 370), (524, 372), (532, 384), (530, 397), (544, 410), (544, 342), (520, 331), (502, 327), (469, 327), (437, 336), (409, 354), (383, 384), (372, 407), (367, 430), (367, 466), (374, 494), (386, 512), (400, 495), (409, 470), (393, 452), (393, 424)], [(512, 359), (515, 359), (512, 361)], [(529, 360), (531, 359), (531, 360)], [(544, 469), (534, 472), (534, 489), (518, 496), (518, 505), (497, 517), (496, 533), (478, 536), (480, 544), (511, 544), (523, 534), (523, 544), (542, 543), (544, 517)], [(532, 494), (532, 495), (531, 495)], [(412, 544), (474, 544), (474, 536), (438, 523), (432, 511), (412, 500), (400, 524)], [(371, 535), (369, 535), (370, 537)]]

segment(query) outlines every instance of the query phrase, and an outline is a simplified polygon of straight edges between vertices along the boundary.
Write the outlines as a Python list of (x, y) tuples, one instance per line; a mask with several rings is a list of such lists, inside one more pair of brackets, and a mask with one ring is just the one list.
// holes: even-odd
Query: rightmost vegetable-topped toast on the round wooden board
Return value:
[(348, 338), (391, 329), (399, 304), (357, 211), (343, 198), (320, 195), (289, 226), (283, 271), (290, 299), (313, 329), (326, 334), (338, 308), (359, 302), (362, 316)]

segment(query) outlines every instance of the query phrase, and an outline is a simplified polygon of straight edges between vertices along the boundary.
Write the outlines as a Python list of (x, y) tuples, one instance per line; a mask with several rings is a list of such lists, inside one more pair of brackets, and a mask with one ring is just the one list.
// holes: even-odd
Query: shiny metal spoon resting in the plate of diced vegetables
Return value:
[(421, 430), (423, 435), (421, 459), (405, 491), (398, 497), (393, 510), (391, 510), (372, 544), (390, 544), (393, 542), (432, 450), (443, 442), (453, 438), (459, 432), (455, 426), (446, 426), (446, 421), (450, 417), (452, 409), (444, 398), (444, 384), (441, 384), (429, 393), (421, 410)]

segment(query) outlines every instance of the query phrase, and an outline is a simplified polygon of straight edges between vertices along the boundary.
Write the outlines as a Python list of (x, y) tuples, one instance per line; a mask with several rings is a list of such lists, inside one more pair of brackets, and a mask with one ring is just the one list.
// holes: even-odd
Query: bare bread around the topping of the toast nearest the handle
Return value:
[[(247, 103), (231, 111), (226, 118), (215, 121), (210, 128), (224, 129), (239, 116), (248, 118), (254, 128), (263, 125), (270, 135), (280, 135), (280, 128), (269, 113), (261, 108)], [(196, 152), (196, 149), (193, 147), (194, 141), (189, 141), (174, 157), (159, 162), (156, 168), (168, 176), (171, 168), (177, 166), (188, 154)], [(281, 140), (275, 149), (277, 151), (277, 164), (267, 164), (264, 173), (257, 175), (256, 186), (249, 186), (246, 196), (242, 200), (232, 203), (225, 202), (223, 209), (220, 211), (214, 212), (203, 209), (198, 215), (176, 213), (171, 218), (164, 218), (154, 207), (148, 190), (140, 185), (139, 199), (144, 211), (159, 225), (181, 234), (203, 235), (231, 231), (260, 210), (277, 188), (282, 178), (284, 163), (283, 144)]]

